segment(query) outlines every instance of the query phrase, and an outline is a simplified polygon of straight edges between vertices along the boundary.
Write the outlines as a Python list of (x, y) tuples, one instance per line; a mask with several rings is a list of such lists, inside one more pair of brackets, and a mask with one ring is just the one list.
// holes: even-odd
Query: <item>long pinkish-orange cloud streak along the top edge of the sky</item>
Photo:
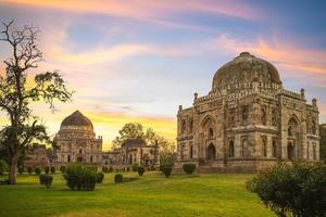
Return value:
[[(54, 9), (75, 13), (102, 14), (116, 17), (137, 18), (145, 22), (156, 23), (175, 28), (201, 29), (200, 27), (172, 21), (172, 16), (185, 13), (211, 14), (214, 16), (226, 16), (244, 20), (256, 20), (262, 16), (261, 12), (253, 5), (243, 4), (241, 1), (120, 1), (120, 0), (2, 0), (4, 3), (23, 7), (38, 7)], [(201, 29), (202, 30), (202, 29)]]

